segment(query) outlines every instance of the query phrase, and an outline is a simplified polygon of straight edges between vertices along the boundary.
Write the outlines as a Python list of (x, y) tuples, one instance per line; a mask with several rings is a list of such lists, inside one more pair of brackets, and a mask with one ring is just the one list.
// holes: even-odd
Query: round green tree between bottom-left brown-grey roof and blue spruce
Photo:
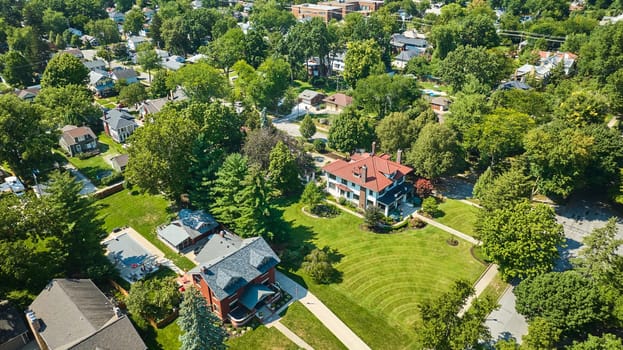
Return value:
[(173, 312), (181, 301), (177, 283), (172, 278), (150, 278), (132, 284), (126, 298), (128, 311), (139, 325), (146, 319), (160, 320)]

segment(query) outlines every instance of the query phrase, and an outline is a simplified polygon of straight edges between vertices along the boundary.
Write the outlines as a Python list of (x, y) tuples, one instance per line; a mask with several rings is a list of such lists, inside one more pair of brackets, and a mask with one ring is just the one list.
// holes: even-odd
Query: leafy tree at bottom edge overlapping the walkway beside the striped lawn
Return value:
[(418, 334), (423, 347), (428, 349), (469, 349), (479, 340), (491, 338), (484, 321), (495, 309), (495, 302), (489, 299), (475, 299), (472, 307), (463, 316), (459, 312), (474, 294), (471, 284), (464, 280), (455, 281), (449, 291), (420, 305), (422, 315)]

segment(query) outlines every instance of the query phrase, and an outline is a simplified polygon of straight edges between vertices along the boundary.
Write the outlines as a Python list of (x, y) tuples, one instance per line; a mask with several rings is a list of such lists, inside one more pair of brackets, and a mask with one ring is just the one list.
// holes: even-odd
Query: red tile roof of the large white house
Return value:
[[(360, 177), (361, 168), (364, 165), (367, 168), (365, 183)], [(388, 154), (371, 155), (370, 153), (355, 154), (351, 157), (350, 162), (341, 159), (336, 160), (325, 165), (322, 170), (374, 192), (382, 191), (391, 186), (394, 181), (413, 171), (406, 165), (391, 161)]]

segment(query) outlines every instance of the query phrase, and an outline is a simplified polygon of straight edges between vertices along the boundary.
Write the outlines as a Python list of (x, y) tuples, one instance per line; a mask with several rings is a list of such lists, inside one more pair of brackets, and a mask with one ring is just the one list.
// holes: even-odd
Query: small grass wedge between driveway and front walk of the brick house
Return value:
[(314, 349), (346, 349), (344, 344), (300, 302), (288, 307), (281, 323)]

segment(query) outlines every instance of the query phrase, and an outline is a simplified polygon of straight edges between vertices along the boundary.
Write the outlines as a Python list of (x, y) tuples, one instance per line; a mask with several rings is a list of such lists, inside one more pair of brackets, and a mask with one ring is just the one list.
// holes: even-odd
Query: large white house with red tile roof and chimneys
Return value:
[(413, 186), (405, 177), (413, 169), (403, 165), (402, 151), (396, 161), (388, 154), (355, 153), (350, 161), (338, 159), (322, 168), (327, 178), (327, 192), (335, 198), (345, 198), (361, 209), (377, 206), (387, 216), (407, 200)]

